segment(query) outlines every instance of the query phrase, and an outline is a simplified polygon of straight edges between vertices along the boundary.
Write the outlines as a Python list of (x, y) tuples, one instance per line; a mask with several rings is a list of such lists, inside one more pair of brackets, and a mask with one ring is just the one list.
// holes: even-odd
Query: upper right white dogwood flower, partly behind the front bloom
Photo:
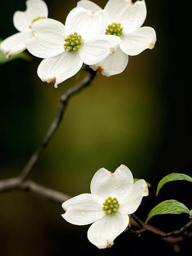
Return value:
[[(82, 0), (77, 3), (94, 12), (101, 8), (94, 2)], [(156, 43), (156, 32), (153, 28), (142, 27), (146, 15), (145, 0), (109, 0), (105, 6), (108, 26), (103, 33), (117, 35), (121, 38), (119, 49), (115, 54), (100, 63), (90, 66), (107, 77), (122, 73), (128, 64), (128, 55), (138, 55), (145, 49), (153, 49)]]

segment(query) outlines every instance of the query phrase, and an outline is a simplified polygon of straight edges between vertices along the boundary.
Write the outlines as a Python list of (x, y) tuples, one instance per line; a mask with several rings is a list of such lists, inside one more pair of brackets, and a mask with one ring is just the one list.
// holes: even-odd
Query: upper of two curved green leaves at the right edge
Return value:
[(182, 173), (171, 173), (167, 176), (165, 176), (158, 184), (157, 187), (157, 192), (156, 192), (156, 196), (159, 193), (159, 190), (162, 188), (162, 186), (164, 184), (166, 184), (169, 181), (174, 181), (174, 180), (186, 180), (186, 181), (190, 181), (192, 182), (192, 177), (186, 175), (186, 174), (182, 174)]

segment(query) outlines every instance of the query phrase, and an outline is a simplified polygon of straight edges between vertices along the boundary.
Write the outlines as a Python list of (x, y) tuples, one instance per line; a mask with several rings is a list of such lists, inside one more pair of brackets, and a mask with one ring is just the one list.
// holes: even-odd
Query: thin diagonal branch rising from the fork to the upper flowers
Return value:
[(41, 154), (43, 153), (44, 149), (47, 147), (50, 139), (53, 137), (53, 134), (58, 129), (58, 127), (62, 121), (64, 112), (66, 110), (68, 100), (75, 93), (80, 92), (83, 88), (90, 85), (90, 83), (96, 76), (97, 72), (92, 70), (88, 66), (85, 66), (84, 70), (86, 70), (89, 74), (81, 82), (77, 83), (77, 85), (71, 87), (66, 93), (64, 93), (60, 96), (60, 102), (58, 105), (57, 113), (47, 131), (47, 134), (45, 135), (41, 145), (38, 147), (38, 149), (36, 149), (36, 151), (34, 152), (32, 157), (30, 158), (30, 160), (24, 167), (23, 171), (21, 172), (20, 178), (22, 181), (25, 181), (29, 177), (30, 173), (35, 168)]

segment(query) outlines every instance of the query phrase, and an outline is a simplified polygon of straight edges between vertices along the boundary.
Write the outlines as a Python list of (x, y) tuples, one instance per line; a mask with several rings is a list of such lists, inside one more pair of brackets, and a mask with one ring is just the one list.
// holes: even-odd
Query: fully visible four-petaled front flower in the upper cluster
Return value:
[(57, 87), (75, 75), (83, 63), (93, 65), (113, 54), (120, 38), (103, 34), (106, 26), (104, 11), (94, 13), (81, 7), (70, 11), (65, 26), (53, 19), (33, 23), (34, 37), (26, 45), (30, 53), (44, 58), (38, 76)]

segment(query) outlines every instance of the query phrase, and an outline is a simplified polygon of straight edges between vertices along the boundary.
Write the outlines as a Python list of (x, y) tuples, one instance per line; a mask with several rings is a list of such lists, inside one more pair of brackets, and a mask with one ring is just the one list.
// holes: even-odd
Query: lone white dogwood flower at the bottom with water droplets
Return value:
[(91, 194), (80, 194), (62, 204), (62, 217), (71, 224), (93, 223), (87, 233), (91, 243), (100, 249), (111, 247), (113, 240), (128, 226), (143, 196), (148, 195), (147, 183), (133, 182), (131, 171), (121, 165), (114, 173), (98, 170), (91, 181)]

